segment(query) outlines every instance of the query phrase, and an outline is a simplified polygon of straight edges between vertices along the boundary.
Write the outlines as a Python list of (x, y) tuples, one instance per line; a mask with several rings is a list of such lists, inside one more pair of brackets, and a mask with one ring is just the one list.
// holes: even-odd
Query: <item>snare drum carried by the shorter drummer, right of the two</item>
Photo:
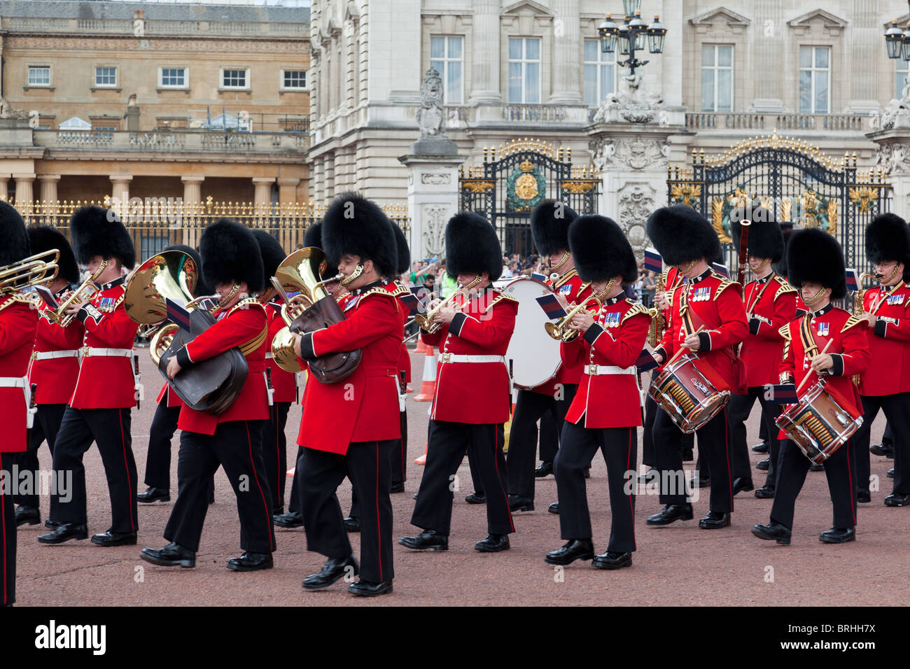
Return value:
[(813, 464), (821, 464), (863, 425), (862, 414), (818, 381), (774, 421)]

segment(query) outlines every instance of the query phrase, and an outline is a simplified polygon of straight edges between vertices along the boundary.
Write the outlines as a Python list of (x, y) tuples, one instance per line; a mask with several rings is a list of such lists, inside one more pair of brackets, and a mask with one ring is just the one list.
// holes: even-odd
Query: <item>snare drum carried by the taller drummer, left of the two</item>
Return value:
[(686, 434), (713, 419), (730, 400), (730, 390), (719, 390), (710, 365), (693, 353), (670, 362), (651, 382), (648, 394)]

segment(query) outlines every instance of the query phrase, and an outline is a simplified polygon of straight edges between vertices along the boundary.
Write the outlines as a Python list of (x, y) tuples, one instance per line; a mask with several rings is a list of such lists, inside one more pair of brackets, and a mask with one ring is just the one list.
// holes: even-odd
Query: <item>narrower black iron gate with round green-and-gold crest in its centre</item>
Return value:
[(531, 209), (551, 198), (579, 214), (595, 213), (600, 175), (593, 167), (572, 167), (571, 148), (525, 138), (484, 147), (483, 164), (462, 167), (459, 186), (461, 210), (487, 218), (504, 253), (527, 257), (534, 252)]

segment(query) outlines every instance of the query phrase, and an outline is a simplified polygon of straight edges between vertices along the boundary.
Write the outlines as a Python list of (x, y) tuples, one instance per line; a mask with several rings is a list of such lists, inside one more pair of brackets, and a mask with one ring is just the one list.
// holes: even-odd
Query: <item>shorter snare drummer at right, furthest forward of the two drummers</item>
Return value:
[[(781, 382), (795, 383), (800, 389), (805, 381), (807, 385), (802, 389), (805, 390), (824, 376), (826, 387), (846, 403), (844, 409), (861, 415), (862, 402), (851, 377), (863, 373), (869, 364), (866, 321), (831, 303), (832, 299), (843, 299), (846, 295), (841, 245), (818, 228), (794, 232), (787, 248), (787, 269), (790, 283), (799, 289), (809, 311), (787, 323), (781, 331), (786, 341), (780, 365)], [(781, 439), (771, 522), (754, 525), (752, 533), (759, 539), (789, 544), (796, 497), (803, 488), (811, 462), (793, 441), (783, 435)], [(856, 467), (852, 441), (846, 441), (824, 461), (834, 507), (834, 527), (821, 533), (821, 542), (852, 542), (856, 538)]]

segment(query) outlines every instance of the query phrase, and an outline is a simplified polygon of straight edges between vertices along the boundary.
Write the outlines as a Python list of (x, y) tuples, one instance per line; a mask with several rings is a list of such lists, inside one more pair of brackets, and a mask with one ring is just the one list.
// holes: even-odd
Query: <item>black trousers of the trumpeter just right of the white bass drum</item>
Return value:
[[(583, 420), (583, 419), (582, 419)], [(560, 531), (565, 540), (591, 539), (591, 514), (584, 470), (600, 449), (607, 463), (612, 526), (607, 551), (635, 550), (635, 466), (638, 437), (635, 428), (585, 428), (566, 421), (560, 450), (553, 461), (560, 498)]]

